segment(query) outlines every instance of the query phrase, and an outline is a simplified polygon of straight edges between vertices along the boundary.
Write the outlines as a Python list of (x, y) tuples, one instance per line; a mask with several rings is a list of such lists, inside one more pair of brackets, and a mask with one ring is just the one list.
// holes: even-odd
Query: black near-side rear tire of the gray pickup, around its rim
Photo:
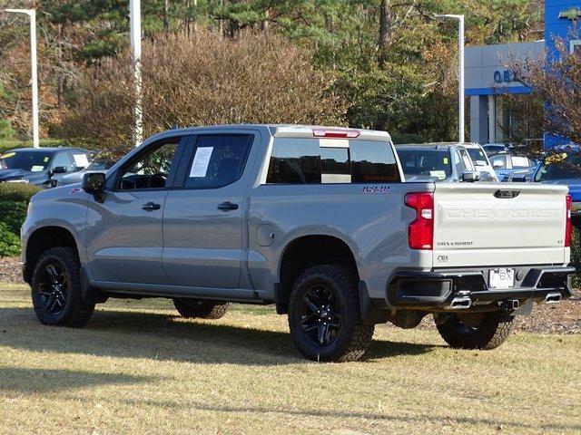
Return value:
[[(328, 345), (314, 343), (301, 326), (303, 296), (316, 285), (326, 285), (340, 306), (340, 329)], [(320, 362), (357, 361), (369, 348), (374, 326), (361, 322), (357, 275), (349, 267), (312, 266), (300, 275), (289, 299), (289, 327), (295, 345), (306, 358)]]

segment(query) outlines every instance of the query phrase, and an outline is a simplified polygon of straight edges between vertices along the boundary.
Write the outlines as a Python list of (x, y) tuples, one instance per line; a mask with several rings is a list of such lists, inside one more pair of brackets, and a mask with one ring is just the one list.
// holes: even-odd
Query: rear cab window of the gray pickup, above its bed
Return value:
[(401, 181), (391, 145), (381, 140), (275, 138), (267, 184)]

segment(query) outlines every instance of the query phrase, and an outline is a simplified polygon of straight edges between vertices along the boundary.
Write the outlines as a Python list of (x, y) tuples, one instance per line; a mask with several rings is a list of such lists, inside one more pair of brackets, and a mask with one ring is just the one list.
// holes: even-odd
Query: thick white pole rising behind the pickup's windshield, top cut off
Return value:
[(135, 131), (133, 134), (133, 144), (138, 147), (143, 140), (141, 0), (130, 0), (129, 2), (129, 38), (133, 51), (133, 82), (135, 87), (135, 107), (133, 108)]

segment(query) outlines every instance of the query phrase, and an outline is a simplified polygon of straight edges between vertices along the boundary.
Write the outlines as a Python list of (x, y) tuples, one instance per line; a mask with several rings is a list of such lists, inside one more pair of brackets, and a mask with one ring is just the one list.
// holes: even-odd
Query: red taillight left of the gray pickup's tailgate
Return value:
[(408, 227), (408, 244), (412, 249), (434, 247), (434, 195), (431, 193), (408, 193), (406, 206), (416, 210), (416, 220)]

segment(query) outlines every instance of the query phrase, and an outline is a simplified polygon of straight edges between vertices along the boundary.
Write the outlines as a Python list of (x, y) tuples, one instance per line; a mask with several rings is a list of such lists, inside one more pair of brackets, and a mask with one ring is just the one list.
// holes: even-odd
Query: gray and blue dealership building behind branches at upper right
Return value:
[[(470, 140), (479, 143), (507, 141), (507, 131), (515, 122), (503, 107), (503, 94), (527, 94), (530, 90), (515, 80), (504, 66), (509, 59), (542, 59), (556, 55), (555, 38), (566, 40), (571, 52), (581, 52), (581, 40), (571, 39), (571, 29), (581, 28), (581, 0), (545, 1), (545, 39), (533, 43), (511, 43), (467, 47), (465, 51), (465, 88), (470, 99)], [(545, 146), (562, 139), (545, 134)]]

